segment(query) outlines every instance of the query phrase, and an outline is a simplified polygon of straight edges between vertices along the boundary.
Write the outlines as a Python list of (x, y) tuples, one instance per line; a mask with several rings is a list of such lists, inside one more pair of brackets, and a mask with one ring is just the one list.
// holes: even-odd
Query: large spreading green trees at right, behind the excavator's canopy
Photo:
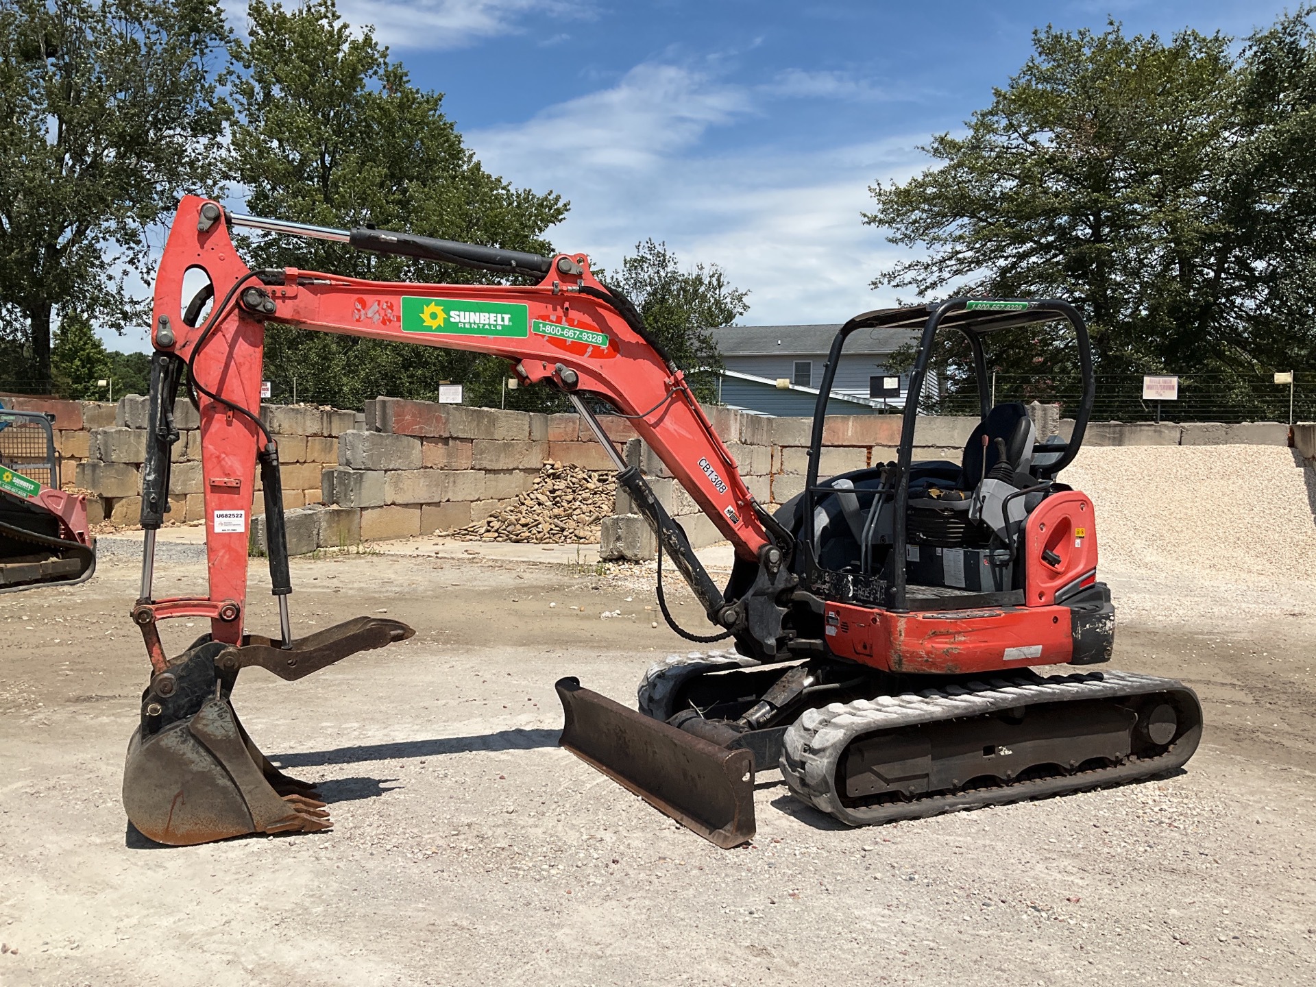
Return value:
[[(936, 164), (873, 187), (865, 221), (917, 255), (874, 284), (1059, 296), (1090, 321), (1105, 372), (1254, 375), (1316, 355), (1316, 47), (1309, 11), (1237, 54), (1219, 34), (1169, 42), (1034, 33), (1034, 54)], [(937, 354), (954, 388), (967, 347)], [(909, 354), (905, 354), (907, 358)], [(1073, 378), (1067, 334), (1000, 333), (992, 367)]]

